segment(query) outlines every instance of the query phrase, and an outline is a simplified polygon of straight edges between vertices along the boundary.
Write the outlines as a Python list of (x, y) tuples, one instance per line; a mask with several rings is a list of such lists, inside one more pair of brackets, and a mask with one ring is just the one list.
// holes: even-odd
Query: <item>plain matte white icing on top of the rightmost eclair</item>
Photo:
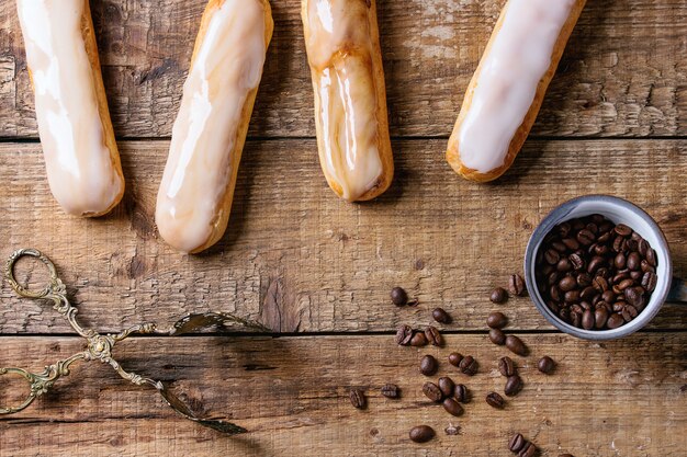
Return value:
[(481, 173), (502, 167), (575, 0), (509, 0), (483, 57), (459, 135), (463, 164)]

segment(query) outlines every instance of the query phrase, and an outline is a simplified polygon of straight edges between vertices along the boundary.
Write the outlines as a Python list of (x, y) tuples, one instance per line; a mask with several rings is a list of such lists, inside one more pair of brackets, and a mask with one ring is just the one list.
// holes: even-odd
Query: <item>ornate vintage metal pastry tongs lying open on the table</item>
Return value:
[[(21, 286), (15, 277), (14, 277), (14, 265), (19, 261), (19, 259), (23, 256), (32, 256), (41, 260), (48, 269), (48, 273), (50, 275), (48, 284), (42, 290), (30, 290), (23, 286)], [(223, 421), (218, 419), (202, 419), (196, 416), (191, 409), (182, 402), (179, 397), (173, 395), (169, 388), (162, 384), (161, 381), (143, 377), (135, 373), (126, 372), (120, 363), (114, 359), (112, 355), (112, 350), (114, 345), (122, 340), (125, 340), (132, 334), (156, 334), (164, 336), (172, 336), (180, 335), (183, 333), (195, 332), (200, 330), (205, 330), (215, 327), (223, 327), (227, 323), (240, 323), (245, 327), (251, 328), (254, 330), (259, 331), (270, 331), (263, 325), (250, 322), (233, 315), (228, 313), (218, 313), (218, 312), (207, 312), (200, 315), (189, 315), (179, 321), (177, 321), (169, 330), (158, 330), (155, 323), (140, 323), (137, 325), (129, 327), (128, 329), (122, 331), (117, 334), (105, 334), (102, 335), (95, 332), (92, 329), (83, 329), (76, 320), (77, 317), (77, 308), (69, 304), (67, 299), (67, 289), (61, 279), (57, 276), (57, 271), (55, 270), (55, 265), (53, 262), (43, 255), (38, 250), (35, 249), (21, 249), (15, 251), (7, 262), (5, 276), (12, 286), (12, 289), (22, 297), (33, 298), (33, 299), (46, 299), (53, 301), (53, 308), (63, 315), (71, 324), (74, 330), (85, 338), (88, 341), (88, 346), (85, 351), (79, 352), (72, 355), (69, 358), (65, 358), (64, 361), (58, 361), (53, 365), (48, 365), (45, 367), (43, 373), (29, 373), (22, 368), (0, 368), (0, 376), (2, 375), (18, 375), (26, 379), (30, 385), (30, 392), (26, 399), (19, 405), (15, 407), (0, 407), (0, 414), (13, 414), (15, 412), (22, 411), (26, 407), (29, 407), (37, 397), (47, 392), (55, 381), (57, 381), (63, 376), (69, 375), (69, 367), (79, 361), (100, 361), (102, 363), (109, 364), (114, 368), (114, 370), (124, 379), (137, 385), (149, 385), (157, 389), (157, 391), (162, 396), (167, 404), (171, 407), (179, 414), (184, 418), (196, 422), (201, 425), (214, 429), (222, 433), (226, 433), (229, 435), (245, 433), (246, 430)]]

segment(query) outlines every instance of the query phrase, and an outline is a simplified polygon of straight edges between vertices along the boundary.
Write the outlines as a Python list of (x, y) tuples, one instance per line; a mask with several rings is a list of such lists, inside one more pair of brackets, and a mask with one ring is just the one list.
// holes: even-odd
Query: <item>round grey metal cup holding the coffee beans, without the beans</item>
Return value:
[[(615, 224), (624, 224), (639, 232), (656, 251), (657, 283), (646, 307), (637, 318), (612, 330), (584, 330), (573, 327), (554, 315), (544, 302), (534, 276), (534, 259), (542, 240), (556, 225), (566, 220), (600, 214)], [(553, 209), (537, 227), (525, 252), (525, 281), (534, 306), (559, 330), (584, 340), (613, 340), (627, 336), (646, 325), (665, 301), (687, 302), (687, 285), (673, 277), (668, 243), (658, 225), (643, 209), (622, 198), (608, 195), (587, 195), (573, 198)]]

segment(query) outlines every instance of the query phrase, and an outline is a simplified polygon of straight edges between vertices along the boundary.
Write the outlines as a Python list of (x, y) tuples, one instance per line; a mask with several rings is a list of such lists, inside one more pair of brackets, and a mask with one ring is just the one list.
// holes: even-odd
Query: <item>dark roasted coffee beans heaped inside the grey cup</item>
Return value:
[(656, 252), (638, 232), (601, 215), (558, 225), (536, 259), (537, 286), (564, 322), (617, 329), (642, 312), (656, 287)]

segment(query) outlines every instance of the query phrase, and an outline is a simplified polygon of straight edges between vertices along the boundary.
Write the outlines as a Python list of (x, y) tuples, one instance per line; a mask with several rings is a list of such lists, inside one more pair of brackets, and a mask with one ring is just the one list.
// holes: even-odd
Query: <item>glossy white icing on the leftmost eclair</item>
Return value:
[[(74, 215), (102, 214), (124, 182), (105, 144), (81, 32), (85, 0), (16, 0), (53, 195)], [(106, 121), (109, 122), (109, 121)]]

